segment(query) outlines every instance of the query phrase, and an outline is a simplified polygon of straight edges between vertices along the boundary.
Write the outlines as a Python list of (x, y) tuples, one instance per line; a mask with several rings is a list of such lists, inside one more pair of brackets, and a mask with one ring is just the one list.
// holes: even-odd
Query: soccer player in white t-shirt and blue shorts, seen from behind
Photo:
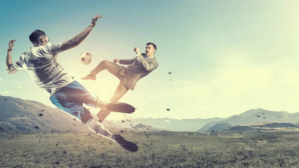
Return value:
[(44, 31), (33, 31), (29, 36), (33, 47), (22, 53), (15, 63), (11, 61), (11, 51), (15, 40), (10, 40), (6, 57), (6, 71), (12, 74), (19, 69), (25, 69), (58, 108), (81, 120), (93, 133), (114, 141), (128, 151), (136, 152), (138, 146), (135, 143), (126, 140), (121, 135), (109, 132), (103, 124), (91, 116), (90, 112), (83, 107), (83, 103), (96, 108), (128, 114), (133, 113), (135, 108), (126, 103), (107, 103), (94, 98), (56, 61), (58, 53), (79, 45), (87, 37), (96, 25), (98, 18), (102, 18), (102, 16), (93, 17), (91, 24), (86, 29), (64, 43), (51, 44)]

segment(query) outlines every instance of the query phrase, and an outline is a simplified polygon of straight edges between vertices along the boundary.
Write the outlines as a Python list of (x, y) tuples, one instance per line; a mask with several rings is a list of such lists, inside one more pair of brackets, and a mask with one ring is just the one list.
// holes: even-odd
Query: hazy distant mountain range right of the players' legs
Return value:
[[(187, 131), (187, 132), (209, 132), (212, 127), (217, 124), (218, 131), (228, 129), (237, 125), (261, 123), (261, 122), (284, 122), (284, 123), (298, 123), (299, 113), (289, 113), (286, 111), (269, 111), (265, 109), (252, 109), (239, 115), (233, 115), (227, 118), (210, 118), (210, 119), (170, 119), (170, 118), (138, 118), (131, 119), (130, 123), (122, 123), (122, 120), (114, 121), (114, 123), (129, 127), (131, 125), (145, 124), (152, 127), (168, 130), (168, 131)], [(215, 131), (216, 131), (215, 130)]]

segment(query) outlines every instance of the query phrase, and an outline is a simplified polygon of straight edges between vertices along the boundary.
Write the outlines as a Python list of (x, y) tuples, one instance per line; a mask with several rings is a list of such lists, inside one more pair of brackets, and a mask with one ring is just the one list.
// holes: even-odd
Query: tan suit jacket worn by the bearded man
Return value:
[(151, 71), (155, 70), (159, 63), (155, 57), (144, 58), (141, 54), (133, 59), (120, 59), (120, 64), (129, 65), (123, 68), (119, 73), (124, 76), (124, 85), (134, 90), (136, 83)]

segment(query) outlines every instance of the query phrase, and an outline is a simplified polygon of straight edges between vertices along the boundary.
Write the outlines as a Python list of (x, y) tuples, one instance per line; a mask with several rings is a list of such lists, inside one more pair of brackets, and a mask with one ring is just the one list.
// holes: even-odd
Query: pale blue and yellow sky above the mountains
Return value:
[[(55, 107), (25, 70), (5, 71), (32, 46), (35, 29), (51, 43), (65, 42), (101, 14), (89, 36), (57, 61), (89, 91), (109, 100), (119, 80), (107, 70), (80, 78), (102, 60), (134, 58), (134, 47), (157, 46), (159, 67), (119, 100), (137, 108), (134, 118), (226, 118), (250, 109), (299, 112), (299, 1), (297, 0), (21, 0), (1, 2), (0, 95)], [(90, 52), (89, 65), (79, 61)], [(124, 65), (126, 66), (126, 65)], [(171, 74), (168, 74), (171, 72)], [(166, 109), (170, 109), (167, 111)], [(94, 110), (94, 109), (93, 109)], [(122, 118), (111, 113), (108, 120)]]

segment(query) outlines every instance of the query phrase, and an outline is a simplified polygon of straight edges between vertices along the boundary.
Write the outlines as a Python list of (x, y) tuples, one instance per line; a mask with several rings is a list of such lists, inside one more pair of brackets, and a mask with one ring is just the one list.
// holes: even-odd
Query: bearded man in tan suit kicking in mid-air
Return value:
[[(114, 59), (113, 62), (104, 60), (100, 62), (89, 75), (81, 79), (96, 80), (96, 75), (104, 69), (107, 69), (110, 73), (120, 79), (120, 84), (110, 99), (111, 102), (116, 103), (128, 92), (129, 89), (134, 90), (136, 83), (141, 78), (147, 76), (151, 71), (155, 70), (159, 65), (156, 61), (156, 57), (154, 57), (154, 53), (156, 51), (156, 45), (154, 43), (147, 43), (145, 55), (140, 53), (138, 47), (134, 48), (134, 51), (137, 53), (135, 58), (120, 60)], [(121, 66), (116, 64), (116, 62), (129, 66)], [(103, 122), (109, 114), (109, 110), (101, 110), (97, 115), (99, 122)]]

